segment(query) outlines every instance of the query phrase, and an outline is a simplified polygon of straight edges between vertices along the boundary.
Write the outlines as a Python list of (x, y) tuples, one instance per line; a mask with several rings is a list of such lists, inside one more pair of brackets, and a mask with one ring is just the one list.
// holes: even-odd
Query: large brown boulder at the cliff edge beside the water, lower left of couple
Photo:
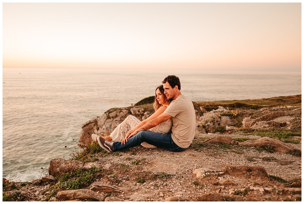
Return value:
[(67, 161), (62, 158), (52, 159), (50, 161), (49, 175), (56, 177), (63, 173), (73, 173), (77, 169), (82, 168), (82, 166), (83, 163), (77, 160)]

